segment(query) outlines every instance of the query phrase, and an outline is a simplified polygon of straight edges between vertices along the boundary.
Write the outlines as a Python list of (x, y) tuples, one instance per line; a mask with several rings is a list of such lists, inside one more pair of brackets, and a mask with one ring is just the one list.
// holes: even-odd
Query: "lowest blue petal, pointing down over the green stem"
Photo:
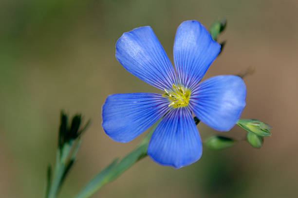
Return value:
[(148, 155), (161, 165), (180, 168), (202, 156), (202, 141), (188, 108), (171, 110), (159, 123), (148, 146)]

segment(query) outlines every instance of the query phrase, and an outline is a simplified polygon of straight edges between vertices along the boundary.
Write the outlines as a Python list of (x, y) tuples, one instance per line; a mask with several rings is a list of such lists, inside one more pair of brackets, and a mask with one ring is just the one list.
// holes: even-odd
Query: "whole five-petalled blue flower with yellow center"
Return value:
[(130, 73), (164, 94), (108, 96), (102, 127), (115, 141), (128, 142), (162, 118), (152, 134), (148, 155), (161, 165), (179, 168), (202, 155), (202, 141), (192, 113), (218, 131), (229, 131), (245, 106), (246, 87), (234, 75), (200, 82), (221, 46), (196, 20), (184, 21), (174, 41), (174, 65), (149, 26), (123, 33), (116, 58)]

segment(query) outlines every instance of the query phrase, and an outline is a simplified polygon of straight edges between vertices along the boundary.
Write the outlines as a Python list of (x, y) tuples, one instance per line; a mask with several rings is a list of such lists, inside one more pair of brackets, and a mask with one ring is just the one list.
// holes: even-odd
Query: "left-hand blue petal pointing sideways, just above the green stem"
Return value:
[(113, 140), (128, 142), (165, 115), (168, 104), (154, 93), (110, 95), (102, 106), (102, 127)]

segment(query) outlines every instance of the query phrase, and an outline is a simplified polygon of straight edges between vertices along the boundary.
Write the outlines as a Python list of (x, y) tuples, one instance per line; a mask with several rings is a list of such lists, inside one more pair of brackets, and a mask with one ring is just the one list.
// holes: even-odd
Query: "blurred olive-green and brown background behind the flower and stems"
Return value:
[[(127, 144), (101, 128), (109, 94), (159, 92), (115, 59), (123, 32), (150, 25), (172, 60), (178, 25), (187, 19), (209, 27), (225, 16), (227, 40), (205, 78), (245, 77), (242, 118), (273, 126), (261, 149), (247, 142), (222, 151), (204, 148), (201, 160), (175, 170), (146, 158), (93, 198), (296, 198), (298, 194), (297, 0), (0, 0), (0, 192), (3, 198), (43, 197), (46, 167), (54, 165), (59, 113), (82, 113), (92, 125), (60, 198), (72, 198)], [(218, 132), (198, 125), (203, 139)], [(238, 140), (235, 126), (221, 133)]]

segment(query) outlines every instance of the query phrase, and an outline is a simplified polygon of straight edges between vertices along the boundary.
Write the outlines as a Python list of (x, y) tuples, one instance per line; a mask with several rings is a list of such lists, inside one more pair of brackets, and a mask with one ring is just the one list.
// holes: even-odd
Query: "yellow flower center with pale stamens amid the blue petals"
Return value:
[(172, 89), (166, 90), (162, 96), (168, 98), (171, 103), (168, 106), (172, 106), (174, 108), (177, 107), (185, 107), (188, 105), (190, 90), (183, 86), (176, 86), (173, 84)]

